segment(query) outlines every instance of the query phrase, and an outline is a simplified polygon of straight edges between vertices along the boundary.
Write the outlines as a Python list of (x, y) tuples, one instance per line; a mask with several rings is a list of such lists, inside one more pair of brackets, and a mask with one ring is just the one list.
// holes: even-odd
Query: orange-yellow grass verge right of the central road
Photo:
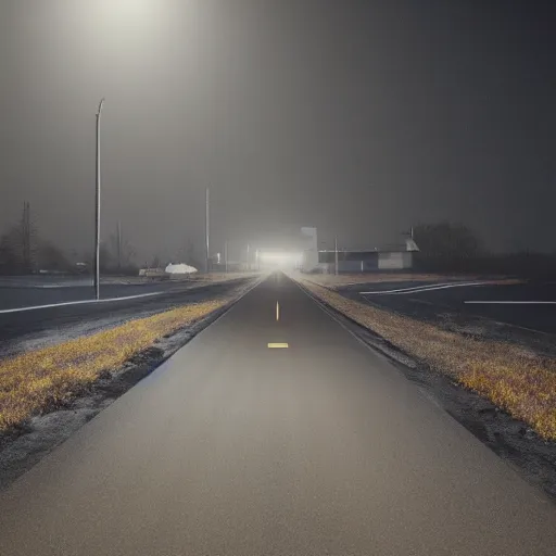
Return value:
[(556, 441), (556, 359), (503, 341), (476, 340), (302, 282), (314, 295), (432, 369), (450, 375)]

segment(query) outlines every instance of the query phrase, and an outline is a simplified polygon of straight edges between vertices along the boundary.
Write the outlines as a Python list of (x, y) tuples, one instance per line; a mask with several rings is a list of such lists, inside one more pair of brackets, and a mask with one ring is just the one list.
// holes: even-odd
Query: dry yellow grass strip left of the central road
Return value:
[(227, 301), (187, 305), (0, 361), (0, 431), (21, 426), (33, 415), (60, 407), (103, 371), (121, 367), (155, 340), (199, 320)]

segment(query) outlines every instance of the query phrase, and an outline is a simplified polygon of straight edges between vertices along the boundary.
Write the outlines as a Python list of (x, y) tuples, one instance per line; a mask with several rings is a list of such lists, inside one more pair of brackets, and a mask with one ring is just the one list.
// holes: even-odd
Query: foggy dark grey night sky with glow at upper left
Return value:
[[(301, 226), (345, 247), (463, 220), (556, 249), (556, 17), (508, 0), (1, 0), (0, 228), (103, 222), (140, 258)], [(328, 232), (328, 233), (327, 233)]]

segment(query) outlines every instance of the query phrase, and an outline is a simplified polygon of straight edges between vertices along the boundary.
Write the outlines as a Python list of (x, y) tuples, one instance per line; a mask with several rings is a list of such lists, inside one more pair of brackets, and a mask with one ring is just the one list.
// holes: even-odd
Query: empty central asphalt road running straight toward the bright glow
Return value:
[(0, 494), (11, 556), (555, 546), (554, 505), (283, 275)]

